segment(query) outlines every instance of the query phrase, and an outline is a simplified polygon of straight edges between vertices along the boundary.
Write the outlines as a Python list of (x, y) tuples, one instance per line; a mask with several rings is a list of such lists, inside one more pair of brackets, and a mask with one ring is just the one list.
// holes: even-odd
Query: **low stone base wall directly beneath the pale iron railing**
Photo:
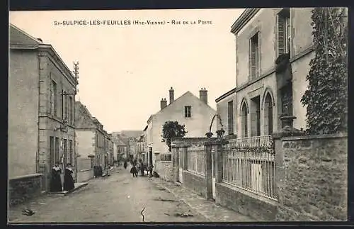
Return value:
[(277, 201), (252, 194), (229, 184), (215, 184), (215, 203), (257, 221), (275, 221)]

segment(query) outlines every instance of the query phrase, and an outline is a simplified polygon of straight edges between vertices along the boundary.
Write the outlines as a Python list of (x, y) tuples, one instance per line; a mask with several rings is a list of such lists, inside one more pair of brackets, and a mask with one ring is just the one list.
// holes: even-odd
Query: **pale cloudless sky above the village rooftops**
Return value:
[[(199, 96), (205, 87), (208, 104), (216, 110), (215, 99), (235, 87), (236, 53), (230, 30), (243, 11), (11, 11), (9, 21), (52, 45), (69, 69), (79, 62), (76, 99), (113, 132), (143, 130), (149, 116), (159, 111), (160, 100), (169, 101), (171, 86), (175, 99), (186, 91)], [(148, 20), (165, 24), (132, 23)], [(172, 24), (173, 20), (181, 24)], [(56, 25), (74, 21), (88, 24)], [(120, 24), (124, 21), (130, 25)]]

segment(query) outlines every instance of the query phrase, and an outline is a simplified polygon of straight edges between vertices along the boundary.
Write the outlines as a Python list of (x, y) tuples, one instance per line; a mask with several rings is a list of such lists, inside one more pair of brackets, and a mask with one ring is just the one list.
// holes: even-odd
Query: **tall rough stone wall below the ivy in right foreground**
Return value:
[(277, 162), (276, 220), (347, 220), (347, 136), (313, 135), (279, 141), (275, 153), (283, 156)]

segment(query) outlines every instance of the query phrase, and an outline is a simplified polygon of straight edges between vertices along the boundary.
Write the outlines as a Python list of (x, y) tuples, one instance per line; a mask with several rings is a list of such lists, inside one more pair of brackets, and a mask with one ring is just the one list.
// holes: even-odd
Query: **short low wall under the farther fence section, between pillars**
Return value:
[(205, 177), (200, 174), (183, 170), (183, 186), (194, 190), (200, 196), (207, 198), (207, 186)]

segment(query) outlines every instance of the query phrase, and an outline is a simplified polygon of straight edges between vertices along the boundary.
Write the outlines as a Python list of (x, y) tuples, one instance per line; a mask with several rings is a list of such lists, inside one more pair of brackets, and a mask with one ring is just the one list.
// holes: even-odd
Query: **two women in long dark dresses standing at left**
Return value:
[(56, 163), (52, 168), (52, 179), (50, 180), (50, 191), (70, 191), (74, 189), (74, 178), (72, 177), (72, 164), (68, 163), (64, 169), (64, 182), (62, 185), (62, 168)]

